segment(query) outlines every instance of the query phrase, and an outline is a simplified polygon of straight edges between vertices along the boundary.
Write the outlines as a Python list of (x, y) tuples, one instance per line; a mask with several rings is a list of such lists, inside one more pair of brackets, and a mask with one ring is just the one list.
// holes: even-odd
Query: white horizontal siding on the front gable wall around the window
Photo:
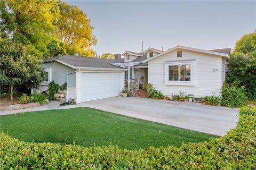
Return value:
[[(165, 85), (165, 62), (195, 60), (194, 86)], [(219, 95), (222, 86), (222, 59), (221, 56), (182, 50), (182, 57), (177, 58), (177, 50), (159, 56), (148, 62), (148, 82), (153, 83), (156, 89), (166, 96), (186, 92), (194, 97)], [(219, 69), (219, 71), (213, 71)]]

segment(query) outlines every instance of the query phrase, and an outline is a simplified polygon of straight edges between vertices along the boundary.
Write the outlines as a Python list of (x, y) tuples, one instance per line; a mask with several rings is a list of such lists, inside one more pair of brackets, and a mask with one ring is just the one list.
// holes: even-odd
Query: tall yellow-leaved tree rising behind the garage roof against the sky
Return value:
[(79, 55), (86, 54), (86, 50), (91, 50), (90, 47), (97, 43), (92, 34), (91, 21), (77, 6), (68, 5), (66, 2), (59, 1), (58, 10), (60, 16), (53, 20), (54, 34), (67, 44), (68, 54), (74, 54), (74, 50)]

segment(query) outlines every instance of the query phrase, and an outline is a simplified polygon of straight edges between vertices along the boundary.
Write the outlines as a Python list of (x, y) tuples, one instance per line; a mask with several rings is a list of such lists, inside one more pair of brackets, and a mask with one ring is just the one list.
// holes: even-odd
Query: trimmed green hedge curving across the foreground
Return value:
[(28, 143), (1, 133), (2, 169), (255, 169), (256, 112), (241, 109), (237, 127), (225, 137), (177, 147), (127, 150)]

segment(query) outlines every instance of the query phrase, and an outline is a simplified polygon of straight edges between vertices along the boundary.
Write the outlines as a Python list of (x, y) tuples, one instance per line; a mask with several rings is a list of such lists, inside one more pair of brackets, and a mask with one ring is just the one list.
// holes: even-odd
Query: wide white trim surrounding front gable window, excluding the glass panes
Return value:
[[(185, 65), (190, 64), (190, 81), (170, 81), (169, 80), (169, 66), (170, 65)], [(165, 85), (175, 85), (175, 86), (195, 86), (195, 62), (193, 61), (173, 61), (165, 62)]]

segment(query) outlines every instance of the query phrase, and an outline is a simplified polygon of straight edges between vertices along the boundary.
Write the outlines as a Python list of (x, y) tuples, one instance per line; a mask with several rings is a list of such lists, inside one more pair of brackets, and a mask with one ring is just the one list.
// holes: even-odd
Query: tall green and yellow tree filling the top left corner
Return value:
[(52, 20), (53, 16), (58, 15), (55, 11), (57, 3), (47, 0), (4, 0), (0, 1), (0, 7), (1, 38), (33, 46), (31, 48), (42, 56), (54, 30)]

